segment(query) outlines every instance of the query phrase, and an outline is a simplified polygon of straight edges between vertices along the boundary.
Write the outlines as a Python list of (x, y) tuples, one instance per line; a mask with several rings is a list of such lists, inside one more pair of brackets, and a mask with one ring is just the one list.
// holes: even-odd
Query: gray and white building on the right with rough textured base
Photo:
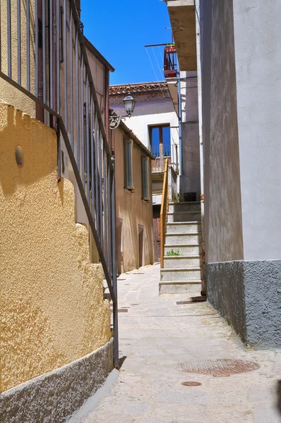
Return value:
[(280, 5), (167, 6), (181, 70), (197, 55), (207, 298), (245, 343), (280, 347)]

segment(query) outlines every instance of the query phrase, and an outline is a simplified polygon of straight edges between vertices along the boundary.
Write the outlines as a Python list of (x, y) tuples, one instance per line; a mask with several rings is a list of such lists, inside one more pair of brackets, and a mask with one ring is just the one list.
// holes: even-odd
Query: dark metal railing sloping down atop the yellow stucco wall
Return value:
[(114, 166), (76, 1), (14, 0), (12, 6), (7, 0), (0, 12), (0, 77), (56, 130), (59, 169), (61, 143), (66, 147), (114, 305), (118, 367)]

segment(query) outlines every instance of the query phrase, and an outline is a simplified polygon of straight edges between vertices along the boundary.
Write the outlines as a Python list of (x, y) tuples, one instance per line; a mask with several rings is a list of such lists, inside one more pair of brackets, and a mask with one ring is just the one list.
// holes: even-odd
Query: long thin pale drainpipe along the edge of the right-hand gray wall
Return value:
[(197, 82), (198, 82), (198, 126), (200, 151), (200, 182), (201, 182), (201, 228), (202, 228), (202, 287), (201, 295), (206, 295), (205, 288), (205, 227), (204, 227), (204, 150), (202, 125), (202, 73), (201, 73), (201, 30), (200, 30), (200, 0), (195, 1), (196, 7), (196, 50), (197, 50)]

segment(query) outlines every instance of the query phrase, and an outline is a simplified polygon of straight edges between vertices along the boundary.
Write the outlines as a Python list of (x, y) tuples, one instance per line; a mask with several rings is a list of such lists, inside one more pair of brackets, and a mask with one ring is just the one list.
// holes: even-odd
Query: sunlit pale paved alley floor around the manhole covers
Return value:
[[(281, 352), (247, 349), (207, 302), (177, 305), (187, 295), (158, 295), (160, 266), (120, 276), (118, 377), (71, 419), (77, 423), (280, 423), (276, 408)], [(281, 329), (281, 328), (280, 328)], [(249, 360), (253, 372), (213, 376), (178, 365)], [(116, 372), (116, 371), (115, 371)], [(187, 387), (185, 381), (199, 382)]]

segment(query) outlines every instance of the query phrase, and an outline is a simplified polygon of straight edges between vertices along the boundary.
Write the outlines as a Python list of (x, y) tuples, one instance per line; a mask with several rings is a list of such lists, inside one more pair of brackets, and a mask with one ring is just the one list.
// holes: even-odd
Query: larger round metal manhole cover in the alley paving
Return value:
[(261, 366), (245, 360), (202, 360), (198, 362), (184, 362), (177, 366), (187, 373), (214, 374), (215, 376), (252, 372)]

